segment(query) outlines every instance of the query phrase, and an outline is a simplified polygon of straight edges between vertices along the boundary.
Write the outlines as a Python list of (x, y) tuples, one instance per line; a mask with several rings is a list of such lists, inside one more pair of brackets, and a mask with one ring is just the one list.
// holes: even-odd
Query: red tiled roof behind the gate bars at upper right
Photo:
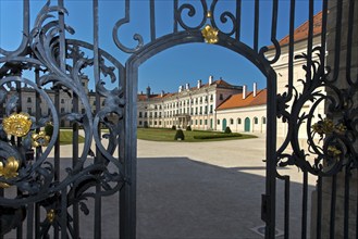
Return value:
[[(294, 32), (294, 40), (295, 42), (305, 40), (308, 37), (308, 26), (309, 21), (305, 22), (303, 25), (297, 27)], [(313, 36), (320, 35), (322, 33), (322, 11), (317, 13), (313, 16)], [(280, 46), (286, 46), (289, 43), (289, 34), (282, 38), (279, 41)], [(269, 49), (274, 48), (274, 46), (269, 46)]]

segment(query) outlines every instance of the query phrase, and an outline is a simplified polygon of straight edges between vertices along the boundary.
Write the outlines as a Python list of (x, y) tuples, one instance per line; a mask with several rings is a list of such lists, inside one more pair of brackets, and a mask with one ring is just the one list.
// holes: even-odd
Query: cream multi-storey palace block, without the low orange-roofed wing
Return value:
[(180, 86), (177, 92), (153, 95), (148, 87), (146, 93), (138, 95), (137, 125), (218, 130), (217, 108), (230, 96), (242, 91), (243, 87), (222, 78), (214, 80), (213, 76), (207, 84), (199, 79), (196, 87)]

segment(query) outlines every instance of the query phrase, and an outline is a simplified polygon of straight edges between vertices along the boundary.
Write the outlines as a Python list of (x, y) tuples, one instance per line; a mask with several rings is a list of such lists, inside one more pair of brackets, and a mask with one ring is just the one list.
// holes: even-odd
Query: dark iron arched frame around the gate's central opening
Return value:
[[(128, 162), (125, 167), (127, 172), (131, 172), (131, 189), (127, 192), (128, 201), (136, 201), (136, 159), (137, 159), (137, 141), (136, 141), (136, 101), (138, 91), (138, 67), (150, 58), (155, 56), (161, 51), (170, 49), (175, 46), (194, 43), (194, 42), (205, 42), (202, 34), (200, 30), (193, 32), (178, 32), (173, 33), (157, 40), (141, 46), (125, 63), (126, 71), (126, 86), (125, 95), (127, 99), (127, 104), (125, 105), (125, 140), (126, 144), (131, 148), (126, 149), (126, 162)], [(267, 78), (268, 86), (268, 99), (267, 99), (267, 118), (270, 127), (267, 127), (267, 155), (270, 159), (275, 159), (275, 130), (276, 130), (276, 74), (273, 71), (270, 62), (263, 56), (262, 53), (258, 53), (255, 49), (249, 48), (247, 45), (237, 41), (224, 34), (219, 33), (219, 41), (215, 43), (225, 49), (232, 50), (242, 56), (245, 56)], [(129, 106), (128, 106), (129, 105)], [(264, 218), (266, 234), (269, 237), (274, 236), (275, 231), (275, 165), (273, 160), (267, 160), (267, 177), (266, 177), (266, 193), (271, 194), (270, 199), (267, 199), (267, 205), (270, 206), (269, 218)], [(134, 204), (129, 205), (127, 210), (128, 222), (135, 221), (136, 207)], [(135, 235), (135, 225), (127, 225), (129, 228), (128, 232)]]

